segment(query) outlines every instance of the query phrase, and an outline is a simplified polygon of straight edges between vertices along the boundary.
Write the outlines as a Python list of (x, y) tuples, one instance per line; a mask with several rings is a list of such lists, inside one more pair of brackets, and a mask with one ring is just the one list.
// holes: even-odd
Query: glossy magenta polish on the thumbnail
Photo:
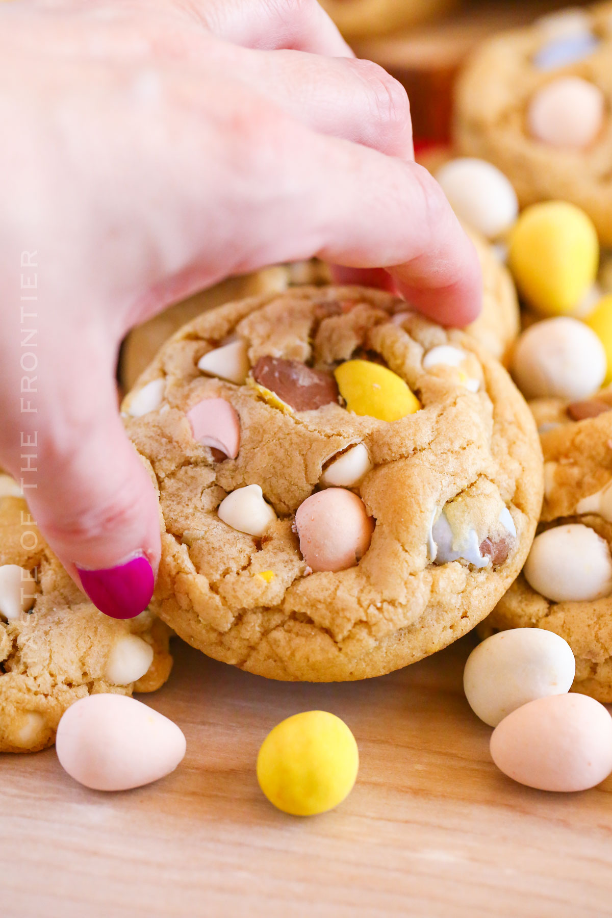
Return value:
[(143, 555), (123, 565), (90, 571), (76, 568), (83, 589), (94, 605), (111, 619), (133, 619), (153, 595), (153, 570)]

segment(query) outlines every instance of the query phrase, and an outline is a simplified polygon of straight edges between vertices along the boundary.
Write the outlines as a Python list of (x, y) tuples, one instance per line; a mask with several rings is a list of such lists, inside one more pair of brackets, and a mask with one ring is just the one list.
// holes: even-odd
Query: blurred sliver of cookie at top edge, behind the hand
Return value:
[(457, 0), (321, 0), (321, 6), (352, 39), (427, 22), (457, 6)]

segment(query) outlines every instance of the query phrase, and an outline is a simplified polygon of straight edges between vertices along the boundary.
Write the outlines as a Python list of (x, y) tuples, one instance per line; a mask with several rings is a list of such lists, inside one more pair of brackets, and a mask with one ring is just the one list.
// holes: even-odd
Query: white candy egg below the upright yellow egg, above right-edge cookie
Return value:
[(586, 398), (606, 378), (606, 351), (595, 331), (559, 316), (536, 322), (518, 339), (512, 375), (526, 398)]

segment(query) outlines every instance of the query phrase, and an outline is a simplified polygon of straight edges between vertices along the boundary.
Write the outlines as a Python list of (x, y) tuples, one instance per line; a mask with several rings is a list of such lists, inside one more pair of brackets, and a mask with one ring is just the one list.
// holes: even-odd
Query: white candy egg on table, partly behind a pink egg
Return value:
[(496, 727), (528, 701), (568, 692), (575, 671), (572, 648), (559, 634), (514, 628), (474, 647), (463, 670), (463, 690), (481, 721)]

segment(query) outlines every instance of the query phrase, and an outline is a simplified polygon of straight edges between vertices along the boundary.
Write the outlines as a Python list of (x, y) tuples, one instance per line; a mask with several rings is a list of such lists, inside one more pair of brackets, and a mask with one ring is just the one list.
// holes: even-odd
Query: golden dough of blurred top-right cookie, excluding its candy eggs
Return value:
[[(570, 201), (584, 209), (600, 239), (611, 245), (612, 4), (587, 8), (587, 15), (593, 47), (578, 60), (557, 67), (538, 65), (542, 50), (557, 40), (544, 23), (484, 41), (455, 89), (453, 140), (462, 155), (480, 157), (501, 169), (514, 185), (521, 207), (551, 199)], [(580, 40), (579, 35), (574, 38)], [(561, 47), (563, 39), (558, 40)], [(606, 100), (603, 126), (584, 149), (552, 146), (528, 129), (529, 106), (536, 94), (565, 77), (597, 87)]]

